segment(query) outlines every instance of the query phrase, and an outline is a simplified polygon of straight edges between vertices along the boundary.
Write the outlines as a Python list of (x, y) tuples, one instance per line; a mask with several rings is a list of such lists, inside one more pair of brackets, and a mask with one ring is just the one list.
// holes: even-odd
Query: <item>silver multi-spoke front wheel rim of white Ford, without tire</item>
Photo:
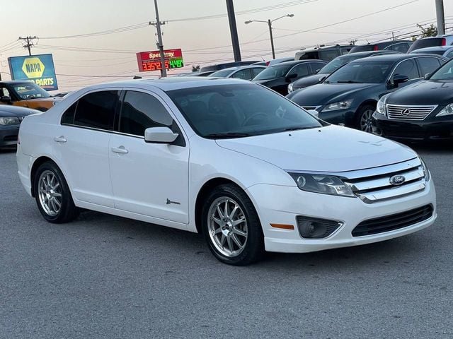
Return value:
[(238, 256), (246, 247), (246, 215), (233, 199), (226, 196), (215, 199), (207, 215), (207, 225), (212, 244), (224, 256)]

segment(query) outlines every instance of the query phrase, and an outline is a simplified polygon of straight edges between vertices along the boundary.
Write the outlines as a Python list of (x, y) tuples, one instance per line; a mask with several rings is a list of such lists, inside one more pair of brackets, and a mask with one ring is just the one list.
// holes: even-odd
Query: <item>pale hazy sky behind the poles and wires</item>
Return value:
[[(158, 0), (164, 48), (183, 49), (185, 68), (232, 61), (225, 0)], [(447, 28), (453, 28), (453, 1), (445, 0)], [(302, 47), (408, 37), (417, 23), (435, 23), (435, 0), (235, 0), (243, 60), (271, 59), (268, 25), (273, 23), (278, 57)], [(139, 73), (136, 52), (156, 50), (153, 0), (0, 0), (0, 72), (8, 79), (8, 57), (27, 55), (18, 37), (36, 36), (32, 54), (52, 53), (59, 91), (93, 83), (159, 76)], [(453, 29), (449, 30), (453, 32)], [(97, 34), (93, 34), (97, 33)], [(74, 35), (81, 35), (74, 37)], [(57, 93), (57, 92), (55, 92)]]

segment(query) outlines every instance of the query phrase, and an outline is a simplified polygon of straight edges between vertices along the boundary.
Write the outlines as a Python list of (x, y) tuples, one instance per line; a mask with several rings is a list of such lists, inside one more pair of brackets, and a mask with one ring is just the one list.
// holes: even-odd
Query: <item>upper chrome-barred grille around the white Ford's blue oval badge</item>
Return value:
[[(403, 183), (392, 184), (391, 178), (403, 176)], [(371, 171), (355, 178), (343, 179), (365, 203), (376, 203), (398, 198), (425, 189), (425, 173), (420, 160), (402, 162), (393, 167), (383, 167), (381, 172)]]

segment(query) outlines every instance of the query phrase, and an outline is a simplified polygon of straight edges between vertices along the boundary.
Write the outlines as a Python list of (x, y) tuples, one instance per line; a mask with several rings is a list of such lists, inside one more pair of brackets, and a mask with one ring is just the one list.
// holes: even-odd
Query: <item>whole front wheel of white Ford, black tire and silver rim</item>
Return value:
[(229, 265), (258, 261), (264, 252), (264, 236), (258, 213), (238, 186), (216, 187), (202, 208), (202, 231), (212, 254)]

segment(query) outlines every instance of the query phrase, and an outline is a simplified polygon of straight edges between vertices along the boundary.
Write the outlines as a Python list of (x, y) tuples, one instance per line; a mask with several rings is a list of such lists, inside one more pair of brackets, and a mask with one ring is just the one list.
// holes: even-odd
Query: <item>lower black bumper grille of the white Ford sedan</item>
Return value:
[(432, 205), (426, 205), (403, 213), (365, 220), (352, 230), (352, 237), (362, 237), (412, 226), (431, 218), (433, 211)]

